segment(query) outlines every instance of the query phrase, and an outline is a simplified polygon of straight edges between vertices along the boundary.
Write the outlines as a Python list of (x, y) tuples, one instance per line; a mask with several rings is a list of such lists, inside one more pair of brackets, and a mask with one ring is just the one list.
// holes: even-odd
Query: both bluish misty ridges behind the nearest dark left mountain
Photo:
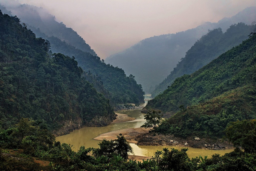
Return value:
[[(10, 6), (8, 9), (12, 14), (17, 14), (37, 37), (48, 40), (52, 52), (74, 56), (78, 65), (85, 71), (85, 78), (110, 99), (111, 104), (138, 104), (144, 101), (142, 86), (137, 84), (133, 75), (126, 76), (124, 70), (105, 64), (94, 51), (79, 48), (76, 44), (79, 43), (78, 40), (83, 39), (71, 28), (56, 22), (55, 18), (44, 9), (29, 5)], [(64, 39), (63, 36), (67, 36), (69, 40)], [(76, 42), (71, 41), (73, 39)], [(86, 43), (84, 41), (80, 44), (85, 46)]]

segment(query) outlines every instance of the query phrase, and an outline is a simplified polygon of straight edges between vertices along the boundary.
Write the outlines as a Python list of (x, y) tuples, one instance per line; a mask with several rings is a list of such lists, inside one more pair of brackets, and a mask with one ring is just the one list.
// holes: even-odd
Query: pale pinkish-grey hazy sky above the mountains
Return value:
[[(231, 17), (256, 0), (17, 0), (47, 9), (101, 58), (154, 35)], [(7, 0), (8, 2), (8, 0)]]

